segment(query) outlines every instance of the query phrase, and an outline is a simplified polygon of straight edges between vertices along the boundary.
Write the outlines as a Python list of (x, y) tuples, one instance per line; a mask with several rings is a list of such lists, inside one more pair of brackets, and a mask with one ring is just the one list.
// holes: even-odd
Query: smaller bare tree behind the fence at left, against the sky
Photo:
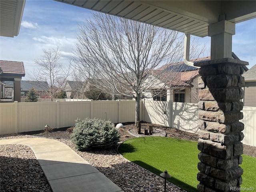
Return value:
[[(56, 49), (43, 49), (44, 55), (34, 60), (40, 66), (38, 70), (33, 71), (34, 81), (48, 82), (49, 87), (41, 87), (47, 90), (48, 95), (53, 101), (54, 94), (62, 88), (64, 82), (71, 74), (71, 62), (68, 65), (60, 62), (60, 50), (57, 46)], [(38, 86), (45, 86), (45, 84), (38, 84)]]

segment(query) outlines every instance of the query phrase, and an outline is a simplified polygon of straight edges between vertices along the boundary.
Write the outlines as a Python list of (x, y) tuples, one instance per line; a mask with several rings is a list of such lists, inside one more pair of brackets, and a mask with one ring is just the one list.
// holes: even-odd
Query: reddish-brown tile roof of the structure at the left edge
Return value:
[(23, 62), (0, 60), (0, 67), (4, 74), (21, 74), (21, 76), (25, 76)]

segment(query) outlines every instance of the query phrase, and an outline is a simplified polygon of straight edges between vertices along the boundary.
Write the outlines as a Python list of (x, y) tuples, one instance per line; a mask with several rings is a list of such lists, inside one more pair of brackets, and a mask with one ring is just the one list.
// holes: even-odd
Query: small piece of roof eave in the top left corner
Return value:
[(0, 0), (0, 36), (18, 36), (25, 0)]

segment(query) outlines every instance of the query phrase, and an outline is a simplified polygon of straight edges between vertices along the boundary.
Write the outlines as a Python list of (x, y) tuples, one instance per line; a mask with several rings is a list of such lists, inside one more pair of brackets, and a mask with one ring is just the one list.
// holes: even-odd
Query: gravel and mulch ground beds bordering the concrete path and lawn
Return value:
[[(153, 125), (160, 134), (166, 133), (168, 137), (176, 137), (186, 140), (197, 141), (197, 134), (190, 134), (173, 128), (166, 128), (159, 125), (142, 123), (142, 130)], [(124, 128), (119, 129), (120, 142), (130, 138), (135, 138), (136, 134), (129, 134), (129, 130), (135, 129), (134, 124), (124, 124)], [(157, 131), (156, 131), (157, 132)], [(46, 133), (27, 132), (26, 134), (1, 135), (0, 139), (30, 138), (34, 136), (46, 137)], [(142, 135), (140, 135), (142, 136)], [(82, 158), (87, 160), (92, 166), (105, 174), (110, 180), (116, 183), (122, 190), (127, 192), (158, 192), (164, 191), (164, 179), (148, 172), (147, 170), (124, 159), (116, 149), (110, 151), (80, 152), (75, 149), (70, 141), (70, 132), (66, 128), (56, 129), (48, 133), (48, 138), (64, 142), (72, 148)], [(36, 160), (32, 150), (23, 145), (4, 145), (1, 152), (1, 178), (0, 191), (2, 192), (22, 192), (38, 191), (51, 192), (50, 186), (42, 169)], [(244, 145), (244, 154), (256, 157), (256, 147)], [(163, 170), (164, 171), (164, 170)], [(168, 183), (167, 191), (184, 192), (180, 188)]]

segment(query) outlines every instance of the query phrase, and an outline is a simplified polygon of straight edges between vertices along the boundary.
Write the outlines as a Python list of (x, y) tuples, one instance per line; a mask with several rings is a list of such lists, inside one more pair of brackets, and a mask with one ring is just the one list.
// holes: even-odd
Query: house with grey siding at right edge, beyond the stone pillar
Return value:
[(244, 106), (256, 107), (256, 64), (244, 76)]

